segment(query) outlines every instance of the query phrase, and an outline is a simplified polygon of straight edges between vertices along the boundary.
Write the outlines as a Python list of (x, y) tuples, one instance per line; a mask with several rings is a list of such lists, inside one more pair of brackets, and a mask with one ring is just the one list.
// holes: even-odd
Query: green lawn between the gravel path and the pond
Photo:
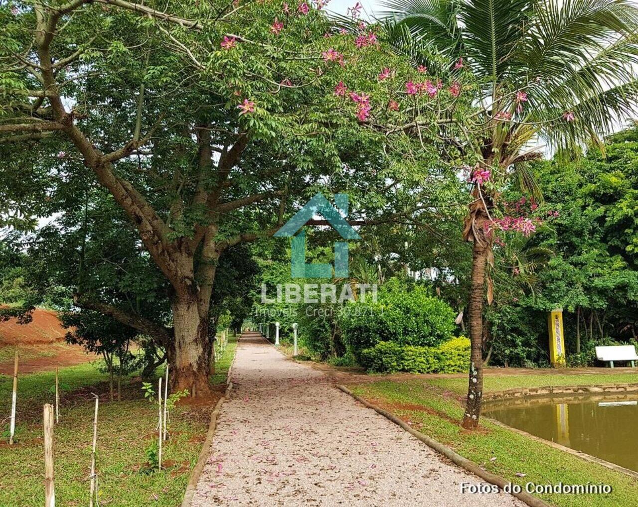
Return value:
[[(490, 390), (528, 385), (547, 385), (548, 376), (516, 376), (515, 379), (486, 378)], [(583, 376), (589, 377), (589, 376)], [(624, 378), (625, 376), (620, 376)], [(584, 383), (574, 376), (563, 376), (565, 382)], [(551, 377), (556, 385), (556, 377)], [(496, 382), (492, 382), (498, 381)], [(456, 381), (459, 381), (457, 383)], [(605, 376), (605, 381), (611, 378)], [(621, 380), (616, 380), (621, 381)], [(622, 380), (626, 382), (628, 380)], [(600, 376), (598, 376), (600, 383)], [(449, 390), (459, 392), (466, 386), (465, 379), (415, 379), (407, 381), (378, 381), (348, 388), (367, 400), (389, 409), (412, 427), (450, 446), (457, 453), (498, 474), (512, 483), (524, 486), (528, 481), (537, 484), (605, 483), (612, 486), (609, 495), (542, 495), (542, 499), (556, 506), (574, 507), (634, 507), (638, 504), (638, 480), (604, 466), (588, 462), (574, 455), (554, 449), (516, 432), (489, 422), (482, 423), (477, 432), (461, 429), (459, 422), (463, 408)], [(496, 459), (494, 459), (496, 458)], [(517, 473), (525, 474), (523, 478)]]

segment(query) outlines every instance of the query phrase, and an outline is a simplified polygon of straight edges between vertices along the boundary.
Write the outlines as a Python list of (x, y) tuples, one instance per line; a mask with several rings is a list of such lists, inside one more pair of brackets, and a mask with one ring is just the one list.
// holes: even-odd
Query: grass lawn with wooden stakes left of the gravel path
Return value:
[[(223, 390), (236, 339), (219, 362), (212, 383)], [(161, 370), (158, 370), (158, 374)], [(0, 506), (44, 503), (42, 404), (54, 402), (54, 372), (19, 378), (17, 443), (0, 443)], [(56, 504), (86, 505), (93, 436), (92, 391), (100, 392), (97, 471), (100, 505), (116, 507), (177, 506), (199, 456), (214, 406), (178, 404), (170, 414), (170, 439), (163, 448), (161, 472), (149, 470), (145, 450), (157, 439), (157, 406), (145, 400), (137, 379), (127, 379), (122, 401), (108, 402), (108, 377), (93, 365), (60, 370), (68, 390), (61, 401), (60, 423), (54, 430)], [(11, 378), (0, 376), (0, 420), (10, 413)], [(3, 423), (4, 428), (6, 422)]]

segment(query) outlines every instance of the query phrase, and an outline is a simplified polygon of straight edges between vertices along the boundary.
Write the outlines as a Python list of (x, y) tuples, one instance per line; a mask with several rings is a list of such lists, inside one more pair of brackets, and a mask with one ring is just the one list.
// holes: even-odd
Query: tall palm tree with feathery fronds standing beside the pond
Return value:
[[(492, 181), (517, 175), (553, 149), (597, 142), (634, 110), (638, 10), (626, 0), (388, 0), (390, 43), (430, 71), (479, 84), (473, 117), (480, 129), (463, 143)], [(443, 63), (441, 63), (443, 62)], [(457, 62), (454, 65), (454, 62)], [(464, 238), (473, 242), (469, 323), (470, 382), (463, 427), (475, 429), (482, 400), (482, 320), (490, 211), (496, 185), (475, 181)]]

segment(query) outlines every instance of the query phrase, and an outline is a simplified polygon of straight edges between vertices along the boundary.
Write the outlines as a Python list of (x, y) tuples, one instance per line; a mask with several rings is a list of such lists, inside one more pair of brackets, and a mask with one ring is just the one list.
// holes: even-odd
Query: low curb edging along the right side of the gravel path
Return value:
[[(510, 481), (505, 480), (505, 478), (485, 471), (484, 469), (480, 468), (475, 462), (470, 461), (467, 458), (464, 458), (459, 453), (454, 452), (449, 447), (421, 433), (420, 431), (417, 431), (414, 428), (410, 427), (410, 425), (408, 425), (407, 423), (399, 419), (396, 415), (376, 406), (375, 404), (370, 403), (369, 401), (363, 399), (359, 395), (356, 395), (346, 386), (338, 385), (337, 387), (343, 392), (345, 392), (346, 394), (352, 396), (355, 400), (364, 404), (364, 406), (366, 406), (367, 408), (373, 409), (374, 411), (384, 416), (385, 418), (389, 419), (396, 425), (399, 425), (401, 428), (403, 428), (404, 430), (406, 430), (413, 436), (417, 437), (417, 439), (422, 441), (424, 444), (433, 448), (436, 452), (441, 453), (442, 455), (447, 457), (447, 459), (452, 461), (454, 464), (460, 466), (461, 468), (466, 469), (468, 472), (479, 476), (480, 478), (484, 479), (490, 484), (494, 484), (498, 486), (501, 490), (505, 487), (505, 485), (510, 484)], [(520, 493), (510, 493), (510, 494), (516, 497), (517, 499), (523, 501), (524, 503), (528, 504), (530, 507), (551, 507), (549, 504), (545, 503), (540, 498), (537, 498), (529, 494), (528, 492), (521, 491)]]

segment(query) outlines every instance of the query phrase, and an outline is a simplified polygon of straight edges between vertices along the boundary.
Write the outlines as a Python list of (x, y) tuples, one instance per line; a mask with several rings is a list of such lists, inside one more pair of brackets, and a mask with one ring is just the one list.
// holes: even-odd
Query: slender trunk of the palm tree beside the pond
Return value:
[(489, 246), (474, 241), (472, 250), (472, 286), (470, 290), (469, 325), (470, 325), (470, 382), (468, 399), (463, 416), (465, 429), (476, 429), (479, 425), (481, 402), (483, 399), (483, 300), (485, 284), (485, 268)]

